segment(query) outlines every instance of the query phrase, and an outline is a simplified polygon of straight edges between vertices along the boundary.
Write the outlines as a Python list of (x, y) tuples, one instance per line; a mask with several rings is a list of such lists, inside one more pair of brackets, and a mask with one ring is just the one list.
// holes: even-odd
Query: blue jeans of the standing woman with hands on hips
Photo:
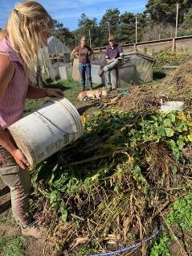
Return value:
[(91, 69), (92, 69), (92, 66), (91, 66), (90, 63), (87, 63), (87, 64), (79, 63), (80, 79), (81, 79), (82, 89), (85, 88), (85, 81), (86, 81), (85, 72), (86, 72), (86, 76), (87, 76), (87, 79), (88, 79), (88, 86), (89, 86), (90, 89), (92, 88)]

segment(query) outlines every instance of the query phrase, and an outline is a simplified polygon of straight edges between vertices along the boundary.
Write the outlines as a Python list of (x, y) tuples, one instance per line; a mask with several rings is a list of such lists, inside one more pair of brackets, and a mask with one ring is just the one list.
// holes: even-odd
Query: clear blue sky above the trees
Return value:
[[(6, 24), (6, 20), (14, 5), (19, 2), (15, 0), (0, 0), (0, 27)], [(82, 13), (88, 18), (96, 18), (98, 22), (105, 10), (118, 8), (121, 13), (138, 13), (145, 10), (147, 0), (38, 0), (51, 14), (68, 27), (71, 31), (78, 27), (78, 19)]]

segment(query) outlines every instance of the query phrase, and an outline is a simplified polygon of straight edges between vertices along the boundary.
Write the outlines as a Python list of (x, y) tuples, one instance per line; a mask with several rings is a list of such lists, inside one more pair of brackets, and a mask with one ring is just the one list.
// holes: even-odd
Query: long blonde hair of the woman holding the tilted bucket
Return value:
[(47, 10), (38, 2), (27, 0), (19, 2), (6, 27), (0, 33), (0, 39), (8, 37), (14, 51), (24, 61), (24, 68), (32, 84), (35, 84), (35, 64), (39, 48), (43, 47), (42, 31), (48, 34), (54, 31), (54, 22)]

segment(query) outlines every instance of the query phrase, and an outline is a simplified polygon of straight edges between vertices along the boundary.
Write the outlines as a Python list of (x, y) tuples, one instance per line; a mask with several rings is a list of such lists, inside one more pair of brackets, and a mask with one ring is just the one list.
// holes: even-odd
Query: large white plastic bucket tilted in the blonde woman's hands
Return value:
[(31, 166), (83, 135), (80, 115), (66, 98), (51, 99), (8, 127)]

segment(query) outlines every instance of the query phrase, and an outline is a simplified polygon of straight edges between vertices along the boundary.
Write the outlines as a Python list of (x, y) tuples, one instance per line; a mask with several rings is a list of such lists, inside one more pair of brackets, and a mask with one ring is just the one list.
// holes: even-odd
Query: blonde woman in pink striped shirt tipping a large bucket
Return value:
[[(22, 117), (26, 98), (62, 97), (59, 89), (39, 89), (35, 63), (39, 48), (47, 45), (53, 21), (38, 2), (24, 1), (10, 13), (0, 33), (0, 175), (10, 188), (14, 218), (22, 233), (40, 238), (44, 232), (31, 217), (29, 163), (6, 130)], [(33, 125), (33, 124), (31, 124)]]

